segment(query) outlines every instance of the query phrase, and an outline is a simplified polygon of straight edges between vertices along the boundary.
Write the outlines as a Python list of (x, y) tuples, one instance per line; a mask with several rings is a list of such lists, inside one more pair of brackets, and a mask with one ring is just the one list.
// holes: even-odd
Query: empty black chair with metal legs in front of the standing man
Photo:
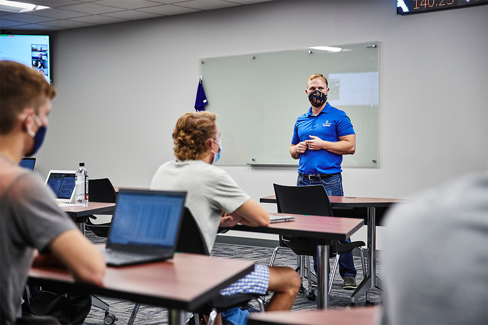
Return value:
[[(279, 213), (334, 216), (329, 197), (327, 196), (327, 192), (322, 185), (285, 186), (273, 184), (273, 186), (275, 187), (275, 195)], [(361, 246), (365, 246), (363, 241), (355, 241), (347, 244), (342, 244), (337, 240), (332, 242), (330, 252), (335, 253), (335, 261), (332, 274), (330, 276), (328, 294), (330, 294), (330, 290), (332, 288), (332, 281), (334, 279), (335, 270), (337, 269), (339, 263), (339, 255), (341, 253), (349, 253), (354, 248), (358, 248), (361, 254), (362, 272), (364, 277), (366, 277), (364, 253)], [(276, 247), (275, 251), (273, 251), (269, 266), (272, 266), (275, 262), (275, 257), (278, 250), (283, 248), (290, 248), (297, 255), (307, 256), (307, 262), (309, 261), (308, 256), (317, 255), (316, 243), (313, 243), (306, 238), (280, 236), (280, 246)], [(315, 300), (316, 295), (312, 289), (312, 274), (310, 272), (309, 263), (307, 263), (306, 269), (309, 282), (307, 298), (309, 300)]]

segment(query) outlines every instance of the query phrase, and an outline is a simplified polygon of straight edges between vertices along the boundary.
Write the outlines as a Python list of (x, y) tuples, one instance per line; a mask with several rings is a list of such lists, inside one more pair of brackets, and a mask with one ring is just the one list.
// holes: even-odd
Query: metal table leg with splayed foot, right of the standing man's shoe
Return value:
[[(383, 286), (383, 282), (376, 276), (376, 216), (375, 208), (368, 208), (368, 276), (362, 280), (351, 295), (351, 303), (366, 293), (370, 288)], [(367, 297), (368, 299), (369, 297)]]

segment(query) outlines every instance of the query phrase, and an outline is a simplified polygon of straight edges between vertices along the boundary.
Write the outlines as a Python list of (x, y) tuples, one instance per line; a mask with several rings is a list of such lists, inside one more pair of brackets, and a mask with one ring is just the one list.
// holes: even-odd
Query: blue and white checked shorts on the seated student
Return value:
[(266, 295), (269, 284), (269, 269), (264, 265), (254, 265), (254, 271), (220, 290), (223, 296), (235, 294)]

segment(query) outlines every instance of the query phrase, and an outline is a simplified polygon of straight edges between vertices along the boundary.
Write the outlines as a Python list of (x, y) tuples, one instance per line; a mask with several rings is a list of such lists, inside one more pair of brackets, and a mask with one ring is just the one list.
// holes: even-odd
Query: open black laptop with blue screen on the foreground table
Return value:
[(187, 192), (121, 188), (103, 250), (107, 265), (172, 258)]

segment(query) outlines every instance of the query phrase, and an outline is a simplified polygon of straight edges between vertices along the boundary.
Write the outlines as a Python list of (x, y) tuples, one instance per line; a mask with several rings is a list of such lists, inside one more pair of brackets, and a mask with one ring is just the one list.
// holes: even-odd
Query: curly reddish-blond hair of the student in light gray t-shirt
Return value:
[(210, 148), (206, 142), (215, 139), (217, 115), (210, 112), (186, 113), (176, 122), (173, 131), (174, 155), (178, 160), (199, 160)]

